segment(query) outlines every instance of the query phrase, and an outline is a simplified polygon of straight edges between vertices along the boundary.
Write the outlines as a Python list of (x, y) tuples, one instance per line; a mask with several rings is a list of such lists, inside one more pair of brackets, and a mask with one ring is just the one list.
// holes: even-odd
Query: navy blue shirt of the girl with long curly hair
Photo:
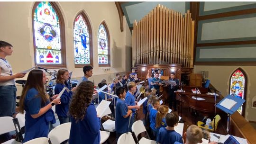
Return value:
[(71, 117), (69, 144), (100, 144), (101, 118), (97, 117), (95, 106), (91, 103), (83, 120)]

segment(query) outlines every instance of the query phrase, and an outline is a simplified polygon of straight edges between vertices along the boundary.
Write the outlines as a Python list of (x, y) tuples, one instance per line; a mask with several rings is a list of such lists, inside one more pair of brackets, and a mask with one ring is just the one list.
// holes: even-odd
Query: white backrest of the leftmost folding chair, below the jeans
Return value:
[(0, 135), (15, 131), (12, 117), (0, 117)]

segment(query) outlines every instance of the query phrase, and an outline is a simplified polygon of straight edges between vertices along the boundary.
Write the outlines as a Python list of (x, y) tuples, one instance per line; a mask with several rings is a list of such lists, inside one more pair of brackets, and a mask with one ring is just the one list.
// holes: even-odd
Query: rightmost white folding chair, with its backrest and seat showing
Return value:
[[(150, 139), (147, 139), (145, 137), (142, 137), (139, 141), (138, 141), (138, 135), (142, 132), (146, 132), (146, 128), (145, 126), (143, 125), (143, 122), (141, 120), (137, 120), (136, 122), (133, 123), (132, 125), (132, 132), (134, 132), (135, 134), (135, 137), (136, 137), (136, 141), (139, 143), (139, 144), (156, 144), (156, 141), (153, 141), (153, 140), (150, 140)], [(147, 137), (148, 134), (146, 132), (146, 135)]]

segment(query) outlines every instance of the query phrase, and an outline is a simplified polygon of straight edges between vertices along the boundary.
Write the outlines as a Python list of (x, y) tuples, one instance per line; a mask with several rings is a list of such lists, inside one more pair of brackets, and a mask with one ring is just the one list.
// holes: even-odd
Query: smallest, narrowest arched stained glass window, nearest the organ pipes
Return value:
[(109, 32), (103, 22), (98, 30), (98, 60), (99, 66), (110, 66)]

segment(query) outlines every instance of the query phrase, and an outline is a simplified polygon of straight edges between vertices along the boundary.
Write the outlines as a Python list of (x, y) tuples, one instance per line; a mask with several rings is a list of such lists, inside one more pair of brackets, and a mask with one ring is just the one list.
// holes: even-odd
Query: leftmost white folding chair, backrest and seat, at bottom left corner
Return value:
[[(0, 135), (15, 131), (15, 126), (12, 121), (12, 117), (0, 117)], [(21, 144), (17, 142), (15, 139), (10, 139), (2, 144)]]

